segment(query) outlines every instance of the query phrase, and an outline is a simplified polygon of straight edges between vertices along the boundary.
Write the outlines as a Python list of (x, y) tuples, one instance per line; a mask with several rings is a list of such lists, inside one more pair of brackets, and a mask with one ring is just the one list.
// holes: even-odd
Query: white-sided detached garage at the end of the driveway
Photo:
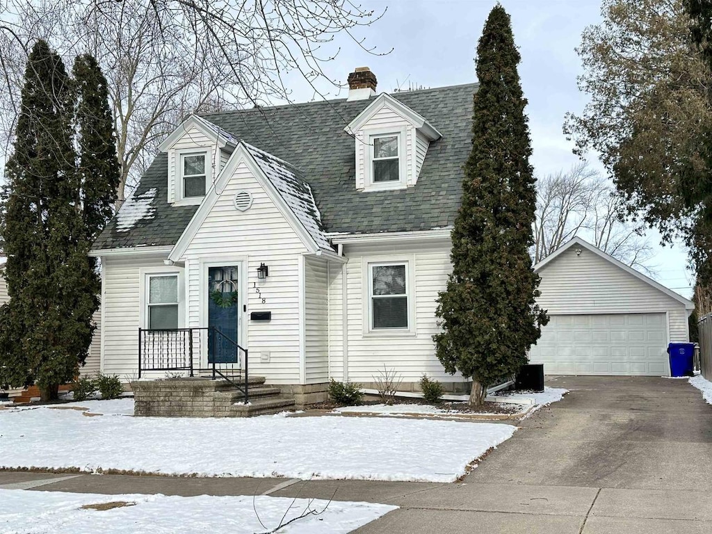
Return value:
[(669, 375), (693, 303), (575, 237), (535, 265), (550, 322), (531, 347), (547, 375)]

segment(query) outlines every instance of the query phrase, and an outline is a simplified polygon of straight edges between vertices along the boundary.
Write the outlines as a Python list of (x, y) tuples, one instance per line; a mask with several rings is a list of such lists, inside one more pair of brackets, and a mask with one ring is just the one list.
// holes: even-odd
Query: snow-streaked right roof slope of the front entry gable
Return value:
[(244, 145), (316, 244), (325, 250), (333, 250), (321, 224), (321, 214), (311, 187), (300, 177), (298, 169), (257, 147)]

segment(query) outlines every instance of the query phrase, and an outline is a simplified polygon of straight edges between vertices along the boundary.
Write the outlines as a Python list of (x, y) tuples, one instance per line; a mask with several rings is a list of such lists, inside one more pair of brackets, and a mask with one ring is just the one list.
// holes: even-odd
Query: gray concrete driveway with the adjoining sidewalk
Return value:
[(712, 533), (712, 406), (697, 389), (655, 377), (551, 377), (548, 384), (571, 393), (526, 419), (463, 483), (0, 472), (0, 487), (400, 506), (359, 534)]

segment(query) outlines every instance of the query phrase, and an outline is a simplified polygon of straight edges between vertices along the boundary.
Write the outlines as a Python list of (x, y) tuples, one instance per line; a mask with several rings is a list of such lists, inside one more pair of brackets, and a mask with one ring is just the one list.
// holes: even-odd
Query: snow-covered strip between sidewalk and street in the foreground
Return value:
[[(112, 502), (135, 504), (110, 510), (82, 508)], [(397, 508), (266, 496), (174, 497), (23, 490), (0, 490), (0, 503), (0, 531), (7, 534), (268, 533), (280, 522), (286, 523), (310, 510), (323, 513), (295, 520), (279, 532), (346, 534)]]

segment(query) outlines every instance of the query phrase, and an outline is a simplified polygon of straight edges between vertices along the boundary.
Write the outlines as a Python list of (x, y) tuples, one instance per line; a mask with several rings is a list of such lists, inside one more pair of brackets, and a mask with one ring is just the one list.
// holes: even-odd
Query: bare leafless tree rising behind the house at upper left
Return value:
[[(7, 0), (0, 4), (0, 103), (17, 111), (27, 50), (38, 38), (66, 60), (97, 58), (108, 79), (123, 199), (162, 138), (191, 112), (290, 102), (289, 83), (325, 96), (339, 33), (379, 14), (349, 0)], [(16, 113), (0, 117), (5, 146)]]

